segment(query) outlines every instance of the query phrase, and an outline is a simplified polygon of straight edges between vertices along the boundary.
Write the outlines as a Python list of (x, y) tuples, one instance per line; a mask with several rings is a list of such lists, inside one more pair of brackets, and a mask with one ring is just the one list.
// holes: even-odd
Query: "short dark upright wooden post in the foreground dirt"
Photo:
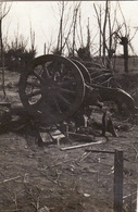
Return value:
[(114, 154), (114, 212), (123, 212), (123, 151)]

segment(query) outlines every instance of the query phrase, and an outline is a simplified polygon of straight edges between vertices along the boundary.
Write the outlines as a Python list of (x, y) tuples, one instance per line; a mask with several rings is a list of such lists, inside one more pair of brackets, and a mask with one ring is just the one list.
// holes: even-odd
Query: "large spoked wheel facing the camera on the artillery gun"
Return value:
[(36, 58), (20, 78), (23, 105), (46, 124), (60, 123), (72, 116), (84, 96), (83, 74), (75, 63), (60, 55)]

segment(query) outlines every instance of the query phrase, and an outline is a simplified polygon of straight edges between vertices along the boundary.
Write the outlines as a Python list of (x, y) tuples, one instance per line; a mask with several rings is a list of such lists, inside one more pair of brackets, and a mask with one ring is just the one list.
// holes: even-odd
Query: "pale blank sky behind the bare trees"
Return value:
[[(68, 2), (70, 3), (70, 2)], [(73, 2), (71, 2), (73, 3)], [(98, 23), (96, 13), (93, 10), (93, 3), (104, 5), (104, 1), (83, 1), (81, 3), (81, 20), (83, 20), (83, 34), (86, 35), (87, 20), (89, 17), (90, 33), (95, 37), (93, 42), (98, 43)], [(126, 23), (130, 26), (130, 37), (134, 35), (135, 27), (138, 27), (138, 1), (122, 1), (120, 2)], [(29, 48), (29, 35), (30, 23), (32, 28), (35, 32), (35, 46), (37, 48), (37, 55), (43, 54), (43, 45), (48, 46), (52, 41), (53, 46), (57, 46), (58, 29), (60, 23), (58, 1), (13, 1), (8, 2), (12, 4), (9, 14), (3, 18), (2, 27), (3, 34), (8, 35), (8, 40), (12, 40), (16, 32), (18, 35), (23, 35), (28, 38)], [(115, 5), (115, 1), (111, 1), (112, 7)], [(71, 14), (72, 15), (72, 12)], [(68, 20), (70, 20), (68, 15)], [(123, 22), (121, 12), (117, 14), (118, 22)], [(124, 32), (123, 32), (124, 34)], [(85, 36), (86, 37), (86, 36)], [(135, 38), (131, 40), (135, 52), (138, 54), (138, 32)], [(117, 50), (118, 53), (123, 53), (122, 46)]]

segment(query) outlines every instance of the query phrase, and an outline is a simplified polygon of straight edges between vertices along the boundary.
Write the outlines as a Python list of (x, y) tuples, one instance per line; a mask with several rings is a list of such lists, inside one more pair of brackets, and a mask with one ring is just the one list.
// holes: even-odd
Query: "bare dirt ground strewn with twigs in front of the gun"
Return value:
[[(10, 73), (7, 73), (10, 75)], [(5, 80), (8, 99), (18, 102), (18, 75)], [(12, 83), (11, 83), (12, 82)], [(131, 91), (133, 92), (133, 91)], [(2, 92), (1, 92), (2, 97)], [(100, 112), (93, 113), (101, 119)], [(96, 137), (85, 148), (62, 151), (62, 147), (86, 144), (64, 139), (38, 146), (29, 123), (21, 130), (5, 129), (0, 135), (0, 211), (12, 212), (112, 212), (114, 202), (114, 154), (87, 150), (123, 150), (123, 208), (136, 211), (138, 183), (138, 125), (114, 120), (118, 137)], [(17, 126), (15, 126), (16, 128)]]

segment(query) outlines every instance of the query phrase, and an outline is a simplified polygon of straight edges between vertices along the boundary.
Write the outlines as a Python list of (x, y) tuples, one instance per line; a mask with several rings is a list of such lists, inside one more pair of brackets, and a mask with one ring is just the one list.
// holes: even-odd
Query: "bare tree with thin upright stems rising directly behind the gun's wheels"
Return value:
[(76, 50), (76, 30), (80, 3), (81, 2), (59, 2), (60, 26), (57, 48), (53, 50), (53, 53), (63, 54), (63, 50), (66, 46), (67, 50), (71, 51), (70, 53), (74, 54)]

